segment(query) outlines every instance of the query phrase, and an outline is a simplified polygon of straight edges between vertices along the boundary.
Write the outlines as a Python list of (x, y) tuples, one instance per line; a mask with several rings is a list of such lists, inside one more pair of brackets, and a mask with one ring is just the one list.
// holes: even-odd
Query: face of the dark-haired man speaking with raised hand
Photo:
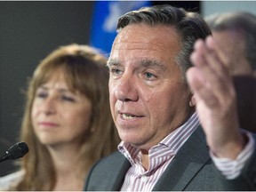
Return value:
[(132, 24), (116, 36), (108, 60), (110, 107), (124, 142), (148, 150), (188, 117), (179, 51), (180, 37), (166, 26)]

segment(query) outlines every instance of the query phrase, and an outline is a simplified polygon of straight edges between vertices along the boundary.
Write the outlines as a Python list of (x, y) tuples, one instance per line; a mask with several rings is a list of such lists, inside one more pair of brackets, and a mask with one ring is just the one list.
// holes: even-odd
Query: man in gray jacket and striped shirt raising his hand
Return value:
[(92, 167), (84, 190), (255, 189), (255, 144), (238, 128), (227, 69), (203, 65), (197, 52), (188, 71), (194, 95), (188, 87), (193, 44), (211, 35), (204, 20), (156, 5), (124, 14), (117, 30), (109, 92), (122, 142)]

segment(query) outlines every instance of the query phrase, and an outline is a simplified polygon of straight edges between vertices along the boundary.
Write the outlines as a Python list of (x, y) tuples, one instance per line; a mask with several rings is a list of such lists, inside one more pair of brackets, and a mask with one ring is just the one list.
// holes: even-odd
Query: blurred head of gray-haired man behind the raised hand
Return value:
[(256, 16), (250, 12), (226, 12), (205, 20), (214, 39), (232, 59), (228, 63), (230, 73), (252, 76), (256, 71)]

